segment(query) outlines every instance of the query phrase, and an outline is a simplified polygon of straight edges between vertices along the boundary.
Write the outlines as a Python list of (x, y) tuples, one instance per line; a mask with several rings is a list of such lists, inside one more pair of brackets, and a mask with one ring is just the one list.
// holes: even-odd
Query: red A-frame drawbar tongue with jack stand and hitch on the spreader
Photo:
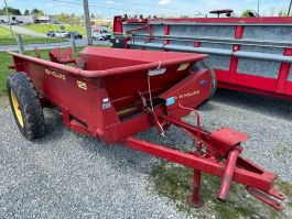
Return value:
[[(247, 190), (261, 201), (277, 210), (282, 209), (282, 205), (275, 199), (283, 200), (284, 195), (273, 188), (273, 183), (277, 176), (257, 166), (250, 161), (238, 156), (242, 151), (239, 144), (241, 141), (245, 141), (247, 136), (228, 128), (223, 128), (221, 130), (208, 133), (202, 129), (169, 117), (163, 117), (163, 119), (174, 125), (187, 130), (187, 132), (196, 140), (204, 142), (204, 145), (207, 145), (207, 153), (203, 155), (199, 147), (196, 147), (194, 152), (185, 153), (159, 144), (138, 140), (132, 136), (126, 140), (126, 145), (133, 150), (194, 168), (194, 188), (193, 194), (188, 198), (191, 206), (202, 206), (199, 188), (202, 172), (204, 172), (221, 177), (221, 185), (217, 194), (217, 198), (220, 200), (227, 199), (230, 183), (237, 182), (247, 185)], [(201, 133), (202, 139), (197, 139), (198, 133)], [(228, 135), (232, 135), (235, 140), (234, 144), (230, 144), (231, 140), (227, 138)], [(225, 144), (219, 141), (221, 138), (225, 139)], [(217, 144), (217, 141), (220, 142), (220, 144)], [(228, 155), (225, 163), (219, 163), (219, 160), (217, 160), (218, 157), (216, 157), (218, 156), (218, 151), (216, 150), (221, 150), (220, 147), (225, 146), (226, 149), (223, 152)], [(212, 153), (212, 151), (216, 151), (216, 153)]]

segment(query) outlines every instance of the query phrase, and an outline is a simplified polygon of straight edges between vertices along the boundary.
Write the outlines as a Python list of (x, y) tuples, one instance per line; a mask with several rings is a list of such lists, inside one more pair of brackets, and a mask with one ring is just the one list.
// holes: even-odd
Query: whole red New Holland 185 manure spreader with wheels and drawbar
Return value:
[[(29, 140), (44, 134), (44, 107), (58, 107), (64, 124), (108, 144), (121, 143), (143, 153), (194, 169), (188, 202), (202, 205), (202, 172), (221, 178), (217, 198), (226, 200), (231, 182), (274, 209), (284, 195), (273, 187), (277, 176), (240, 156), (248, 140), (230, 128), (208, 132), (195, 110), (214, 94), (216, 79), (207, 55), (88, 46), (77, 58), (55, 48), (51, 61), (18, 53), (15, 73), (8, 77), (8, 95), (17, 124)], [(196, 114), (196, 124), (181, 119)], [(171, 124), (194, 139), (188, 153), (147, 142), (133, 135), (156, 128), (167, 135)]]

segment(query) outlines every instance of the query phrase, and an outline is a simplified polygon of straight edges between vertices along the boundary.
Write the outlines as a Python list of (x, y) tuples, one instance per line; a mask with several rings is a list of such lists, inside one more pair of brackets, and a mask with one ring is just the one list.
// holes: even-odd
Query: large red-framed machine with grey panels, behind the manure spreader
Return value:
[(219, 88), (292, 99), (292, 18), (115, 17), (112, 47), (209, 54)]

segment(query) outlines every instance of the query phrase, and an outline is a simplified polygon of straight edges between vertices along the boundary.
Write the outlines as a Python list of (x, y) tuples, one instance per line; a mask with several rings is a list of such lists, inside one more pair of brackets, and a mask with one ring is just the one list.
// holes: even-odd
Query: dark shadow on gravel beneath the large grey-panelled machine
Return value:
[[(292, 120), (292, 101), (227, 89), (217, 89), (212, 101)], [(208, 105), (207, 105), (208, 106)], [(208, 108), (204, 107), (204, 110)]]

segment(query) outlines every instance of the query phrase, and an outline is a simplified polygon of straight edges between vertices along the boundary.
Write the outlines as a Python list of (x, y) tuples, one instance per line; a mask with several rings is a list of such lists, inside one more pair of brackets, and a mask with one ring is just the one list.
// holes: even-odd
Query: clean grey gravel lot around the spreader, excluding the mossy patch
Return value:
[[(219, 90), (201, 111), (207, 129), (249, 133), (244, 155), (292, 182), (290, 101)], [(0, 218), (187, 217), (152, 188), (148, 173), (156, 158), (106, 146), (64, 128), (54, 112), (45, 116), (47, 134), (32, 143), (20, 135), (10, 109), (0, 109)], [(194, 122), (193, 116), (186, 120)]]

